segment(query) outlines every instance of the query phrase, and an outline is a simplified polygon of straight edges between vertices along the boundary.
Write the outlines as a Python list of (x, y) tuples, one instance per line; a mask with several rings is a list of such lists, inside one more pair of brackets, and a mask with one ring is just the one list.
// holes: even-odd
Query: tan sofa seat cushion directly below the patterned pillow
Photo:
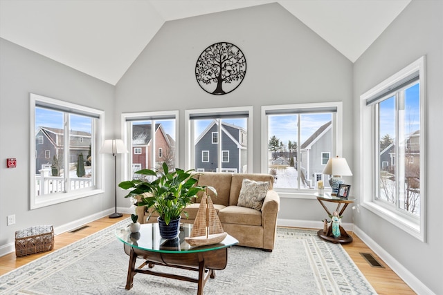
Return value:
[(255, 209), (228, 206), (219, 211), (221, 223), (231, 223), (235, 225), (262, 225), (262, 212)]

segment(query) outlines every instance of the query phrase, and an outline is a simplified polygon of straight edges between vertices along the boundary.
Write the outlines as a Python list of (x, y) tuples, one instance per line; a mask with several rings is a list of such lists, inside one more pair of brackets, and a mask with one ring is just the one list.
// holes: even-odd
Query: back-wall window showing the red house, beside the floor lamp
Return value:
[[(130, 142), (132, 154), (127, 155), (129, 165), (127, 173), (132, 178), (140, 178), (129, 171), (129, 167), (140, 164), (140, 169), (162, 169), (163, 162), (169, 169), (175, 169), (177, 163), (176, 146), (178, 134), (178, 111), (147, 113), (127, 113), (122, 115), (123, 130), (127, 142)], [(143, 153), (144, 151), (144, 153)]]

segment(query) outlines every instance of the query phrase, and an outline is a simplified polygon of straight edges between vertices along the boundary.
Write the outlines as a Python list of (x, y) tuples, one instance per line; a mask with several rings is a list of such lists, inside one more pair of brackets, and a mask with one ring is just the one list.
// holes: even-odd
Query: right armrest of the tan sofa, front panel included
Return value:
[(277, 234), (277, 216), (280, 210), (280, 196), (269, 190), (262, 206), (263, 248), (272, 251)]

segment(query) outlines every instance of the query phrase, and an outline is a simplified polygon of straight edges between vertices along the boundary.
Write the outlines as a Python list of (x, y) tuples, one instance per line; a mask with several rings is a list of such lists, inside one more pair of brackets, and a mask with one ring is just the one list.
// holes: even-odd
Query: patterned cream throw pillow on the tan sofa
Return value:
[(245, 178), (242, 182), (237, 206), (261, 210), (269, 185), (267, 181), (254, 181)]

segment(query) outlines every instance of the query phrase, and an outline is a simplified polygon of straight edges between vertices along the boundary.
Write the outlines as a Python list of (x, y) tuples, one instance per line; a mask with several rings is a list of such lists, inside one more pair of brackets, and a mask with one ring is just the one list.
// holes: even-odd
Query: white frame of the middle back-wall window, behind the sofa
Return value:
[(214, 115), (214, 114), (224, 114), (224, 113), (247, 113), (248, 114), (248, 124), (247, 124), (247, 136), (246, 136), (246, 146), (248, 146), (248, 157), (246, 171), (242, 173), (252, 173), (253, 171), (253, 106), (237, 106), (230, 108), (200, 108), (194, 110), (185, 110), (185, 168), (193, 169), (194, 166), (194, 143), (191, 142), (191, 134), (193, 129), (191, 115)]

